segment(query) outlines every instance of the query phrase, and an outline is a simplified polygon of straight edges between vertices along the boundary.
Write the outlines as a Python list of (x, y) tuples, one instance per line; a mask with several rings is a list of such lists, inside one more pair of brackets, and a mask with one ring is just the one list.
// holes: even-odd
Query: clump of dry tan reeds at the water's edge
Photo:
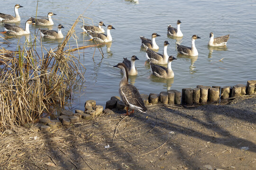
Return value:
[(64, 51), (77, 21), (61, 47), (46, 50), (46, 55), (39, 56), (35, 45), (19, 46), (17, 51), (0, 47), (0, 129), (24, 125), (67, 104), (73, 85), (83, 79), (80, 70), (85, 70)]

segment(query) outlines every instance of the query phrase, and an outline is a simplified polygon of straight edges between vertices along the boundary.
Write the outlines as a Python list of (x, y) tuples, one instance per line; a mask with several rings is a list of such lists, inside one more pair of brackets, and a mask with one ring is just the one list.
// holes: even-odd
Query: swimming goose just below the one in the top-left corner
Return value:
[(19, 26), (11, 26), (9, 24), (4, 25), (4, 32), (2, 33), (7, 33), (7, 34), (12, 34), (12, 35), (25, 35), (25, 34), (30, 34), (29, 32), (29, 25), (32, 24), (32, 19), (28, 19), (25, 24), (25, 30), (22, 29)]

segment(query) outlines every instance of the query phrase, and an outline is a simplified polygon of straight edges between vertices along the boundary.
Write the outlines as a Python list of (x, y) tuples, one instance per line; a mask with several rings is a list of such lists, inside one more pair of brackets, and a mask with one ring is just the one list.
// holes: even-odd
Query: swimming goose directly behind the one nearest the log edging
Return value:
[(169, 45), (168, 41), (164, 42), (164, 50), (163, 54), (159, 54), (148, 47), (144, 45), (144, 48), (146, 48), (146, 58), (148, 62), (152, 62), (155, 64), (167, 64), (168, 62), (168, 54), (167, 54), (167, 46)]

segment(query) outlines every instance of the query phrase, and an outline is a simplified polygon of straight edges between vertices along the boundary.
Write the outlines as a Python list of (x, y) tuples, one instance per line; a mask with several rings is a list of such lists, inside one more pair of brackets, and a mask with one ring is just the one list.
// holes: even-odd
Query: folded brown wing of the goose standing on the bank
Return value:
[(121, 86), (119, 93), (125, 105), (129, 106), (129, 104), (132, 104), (137, 106), (139, 110), (147, 110), (138, 89), (134, 85), (127, 84)]

